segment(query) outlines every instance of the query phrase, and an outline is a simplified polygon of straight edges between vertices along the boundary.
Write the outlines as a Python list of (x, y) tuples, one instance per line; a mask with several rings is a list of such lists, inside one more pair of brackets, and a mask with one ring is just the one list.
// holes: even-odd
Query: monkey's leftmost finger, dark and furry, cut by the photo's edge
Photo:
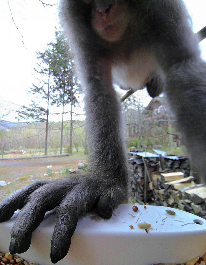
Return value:
[(26, 187), (20, 190), (16, 190), (8, 197), (3, 199), (0, 204), (0, 222), (8, 220), (16, 210), (23, 208), (29, 195), (31, 195), (34, 190), (38, 189), (48, 182), (49, 180), (36, 180), (34, 182), (31, 182)]

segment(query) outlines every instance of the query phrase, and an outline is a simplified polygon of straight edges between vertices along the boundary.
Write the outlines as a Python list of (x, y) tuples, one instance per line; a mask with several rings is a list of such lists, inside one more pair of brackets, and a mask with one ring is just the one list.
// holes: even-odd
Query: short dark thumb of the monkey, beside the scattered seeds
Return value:
[(100, 197), (97, 202), (97, 213), (100, 217), (109, 219), (112, 216), (112, 205), (108, 197)]

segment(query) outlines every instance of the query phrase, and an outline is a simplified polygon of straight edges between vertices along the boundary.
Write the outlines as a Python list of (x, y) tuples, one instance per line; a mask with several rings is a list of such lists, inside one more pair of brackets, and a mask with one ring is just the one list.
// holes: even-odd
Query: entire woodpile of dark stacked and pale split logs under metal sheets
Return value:
[(131, 197), (140, 204), (179, 208), (206, 219), (206, 185), (195, 184), (189, 176), (188, 160), (167, 159), (164, 171), (161, 163), (158, 157), (129, 153)]

